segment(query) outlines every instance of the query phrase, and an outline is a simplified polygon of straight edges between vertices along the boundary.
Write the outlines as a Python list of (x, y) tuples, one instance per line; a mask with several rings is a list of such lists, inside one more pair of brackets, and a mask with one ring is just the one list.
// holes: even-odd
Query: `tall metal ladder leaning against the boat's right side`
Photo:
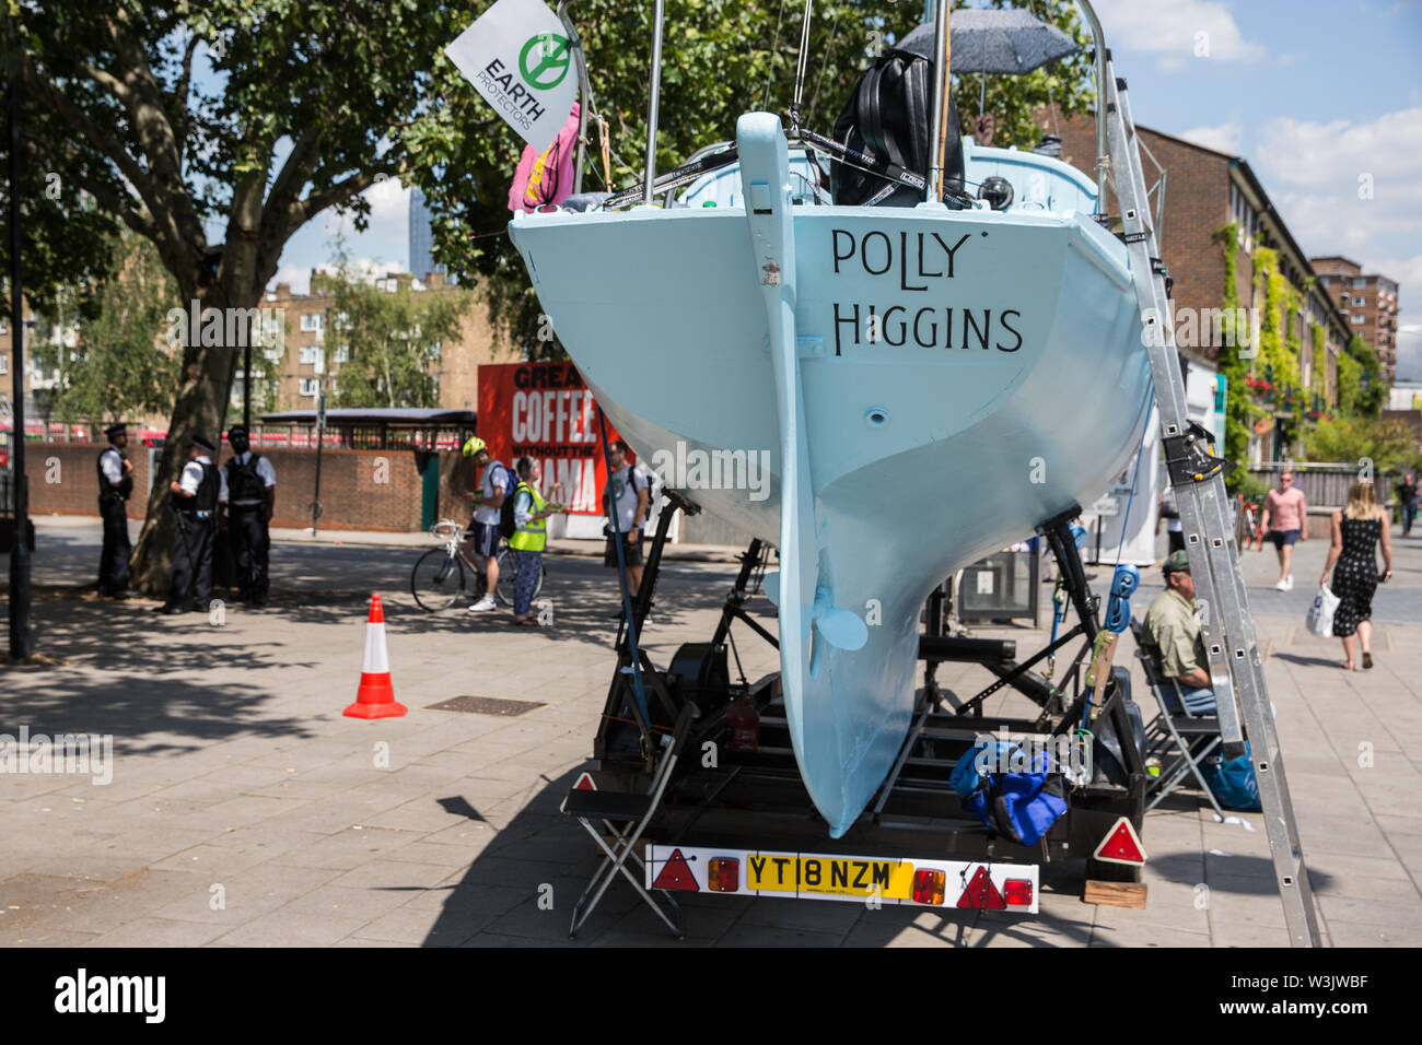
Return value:
[[(1204, 648), (1224, 752), (1226, 756), (1236, 756), (1244, 751), (1239, 709), (1234, 705), (1237, 697), (1239, 707), (1244, 711), (1250, 758), (1258, 781), (1260, 806), (1288, 936), (1294, 947), (1317, 947), (1318, 918), (1284, 776), (1284, 756), (1264, 685), (1254, 621), (1249, 613), (1249, 591), (1239, 567), (1229, 495), (1224, 491), (1224, 462), (1213, 454), (1213, 435), (1189, 419), (1175, 331), (1169, 323), (1165, 266), (1158, 256), (1126, 81), (1116, 80), (1109, 50), (1105, 51), (1103, 61), (1102, 101), (1106, 105), (1108, 155), (1099, 158), (1098, 164), (1108, 165), (1106, 175), (1121, 203), (1122, 230), (1149, 341), (1166, 465), (1180, 509), (1190, 576), (1202, 604)], [(1105, 212), (1105, 200), (1101, 202), (1101, 209)]]

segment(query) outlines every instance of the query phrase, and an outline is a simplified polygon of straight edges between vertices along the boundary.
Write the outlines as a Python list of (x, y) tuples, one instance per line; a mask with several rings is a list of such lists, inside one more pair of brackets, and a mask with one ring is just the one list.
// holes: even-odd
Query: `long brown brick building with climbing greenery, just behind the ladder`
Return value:
[[(1045, 121), (1044, 121), (1045, 129)], [(1224, 247), (1217, 236), (1226, 225), (1239, 229), (1234, 257), (1234, 284), (1240, 306), (1257, 314), (1263, 300), (1256, 289), (1254, 256), (1260, 247), (1277, 252), (1278, 264), (1288, 283), (1298, 291), (1301, 307), (1288, 321), (1293, 334), (1305, 347), (1298, 370), (1303, 390), (1318, 404), (1338, 398), (1337, 360), (1345, 350), (1349, 323), (1337, 307), (1337, 297), (1315, 277), (1307, 254), (1300, 249), (1274, 209), (1268, 193), (1249, 162), (1219, 149), (1183, 138), (1136, 127), (1143, 146), (1146, 181), (1162, 178), (1156, 192), (1165, 193), (1165, 212), (1156, 233), (1162, 256), (1175, 280), (1175, 330), (1186, 370), (1186, 398), (1192, 415), (1223, 435), (1223, 398), (1220, 392), (1220, 337), (1214, 317), (1224, 304)], [(1054, 131), (1062, 139), (1062, 159), (1095, 178), (1095, 114), (1062, 119)], [(1163, 175), (1162, 175), (1163, 172)], [(1158, 200), (1152, 195), (1152, 203)], [(1115, 200), (1108, 200), (1108, 212)], [(1315, 374), (1310, 326), (1318, 324), (1325, 337), (1324, 373)], [(1247, 388), (1229, 388), (1229, 395), (1254, 395)], [(1288, 456), (1297, 446), (1300, 414), (1305, 409), (1281, 409), (1273, 405), (1267, 431), (1256, 431), (1249, 455), (1256, 463)], [(1260, 425), (1263, 428), (1263, 425)]]

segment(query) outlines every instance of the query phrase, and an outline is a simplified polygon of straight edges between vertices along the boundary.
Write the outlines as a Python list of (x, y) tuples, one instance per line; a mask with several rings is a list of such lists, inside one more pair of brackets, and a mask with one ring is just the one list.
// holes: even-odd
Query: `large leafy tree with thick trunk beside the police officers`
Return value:
[[(437, 68), (448, 67), (442, 48), (482, 7), (10, 4), (7, 60), (18, 63), (27, 111), (44, 114), (26, 129), (26, 159), (70, 193), (50, 200), (53, 222), (34, 229), (27, 254), (63, 253), (67, 220), (91, 199), (154, 245), (181, 301), (220, 318), (171, 345), (181, 367), (169, 446), (222, 431), (252, 310), (292, 236), (331, 208), (364, 227), (364, 189), (428, 165), (431, 149), (459, 151), (427, 125), (439, 81), (451, 81), (452, 68)], [(135, 583), (148, 591), (166, 584), (166, 489), (182, 458), (164, 455), (135, 550)]]

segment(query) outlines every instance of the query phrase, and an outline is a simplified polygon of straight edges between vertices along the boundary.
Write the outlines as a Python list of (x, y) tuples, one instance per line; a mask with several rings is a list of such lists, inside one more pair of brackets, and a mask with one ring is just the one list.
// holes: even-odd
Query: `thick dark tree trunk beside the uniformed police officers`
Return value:
[[(242, 300), (235, 300), (242, 299)], [(182, 385), (173, 404), (172, 419), (168, 424), (168, 441), (158, 458), (148, 493), (148, 515), (138, 535), (138, 547), (132, 559), (132, 584), (144, 594), (164, 597), (168, 594), (172, 573), (172, 549), (178, 535), (178, 515), (172, 509), (172, 495), (168, 485), (178, 479), (188, 462), (188, 445), (192, 436), (201, 435), (220, 449), (222, 427), (232, 392), (233, 370), (240, 347), (229, 344), (229, 330), (240, 333), (240, 324), (229, 324), (229, 309), (255, 309), (262, 300), (256, 290), (233, 291), (222, 286), (185, 294), (188, 316), (191, 303), (198, 300), (203, 321), (198, 330), (188, 330), (183, 345)], [(222, 316), (220, 344), (205, 345), (202, 338), (208, 309), (216, 309)], [(250, 337), (252, 333), (247, 331)], [(233, 340), (240, 340), (233, 338)], [(216, 461), (218, 455), (213, 455)]]

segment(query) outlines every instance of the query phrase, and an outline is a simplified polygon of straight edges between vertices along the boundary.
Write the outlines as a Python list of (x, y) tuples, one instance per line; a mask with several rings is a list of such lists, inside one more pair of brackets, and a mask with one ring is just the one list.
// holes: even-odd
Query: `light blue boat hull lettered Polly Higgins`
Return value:
[(738, 144), (749, 215), (520, 215), (510, 236), (644, 461), (768, 454), (768, 489), (688, 495), (781, 549), (786, 715), (838, 837), (907, 734), (929, 591), (1108, 488), (1149, 361), (1089, 215), (792, 206), (778, 121), (742, 117)]

